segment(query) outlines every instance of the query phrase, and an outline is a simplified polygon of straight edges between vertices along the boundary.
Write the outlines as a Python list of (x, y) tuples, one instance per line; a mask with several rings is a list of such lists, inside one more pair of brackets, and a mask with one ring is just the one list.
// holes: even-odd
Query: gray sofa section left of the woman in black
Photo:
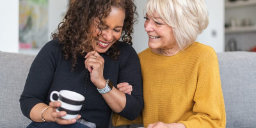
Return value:
[(0, 51), (0, 126), (26, 127), (31, 120), (22, 115), (20, 94), (35, 56)]

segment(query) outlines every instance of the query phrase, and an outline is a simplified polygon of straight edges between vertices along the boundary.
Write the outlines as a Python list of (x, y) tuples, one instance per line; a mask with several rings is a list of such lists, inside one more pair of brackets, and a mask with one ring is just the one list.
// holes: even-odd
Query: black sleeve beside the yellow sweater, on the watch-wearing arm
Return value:
[(125, 93), (125, 108), (118, 113), (129, 120), (137, 118), (144, 106), (140, 60), (136, 51), (126, 43), (119, 45), (119, 75), (118, 83), (127, 82), (132, 85), (132, 94)]

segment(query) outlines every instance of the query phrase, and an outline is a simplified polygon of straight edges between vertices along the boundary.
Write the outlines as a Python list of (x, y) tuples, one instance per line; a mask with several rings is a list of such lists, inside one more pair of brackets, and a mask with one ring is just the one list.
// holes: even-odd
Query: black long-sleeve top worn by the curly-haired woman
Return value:
[[(132, 85), (132, 95), (125, 94), (125, 108), (118, 114), (134, 120), (140, 115), (144, 104), (140, 61), (131, 45), (124, 42), (116, 43), (120, 49), (118, 60), (100, 54), (105, 60), (104, 78), (110, 79), (115, 87), (122, 82)], [(72, 90), (84, 95), (86, 89), (82, 118), (95, 123), (97, 127), (108, 127), (112, 110), (97, 91), (97, 87), (90, 81), (90, 74), (84, 67), (84, 56), (78, 56), (76, 68), (72, 71), (71, 60), (63, 58), (61, 49), (62, 45), (58, 40), (51, 40), (36, 56), (20, 96), (22, 113), (30, 118), (29, 113), (36, 104), (41, 102), (49, 104), (49, 95), (54, 90)]]

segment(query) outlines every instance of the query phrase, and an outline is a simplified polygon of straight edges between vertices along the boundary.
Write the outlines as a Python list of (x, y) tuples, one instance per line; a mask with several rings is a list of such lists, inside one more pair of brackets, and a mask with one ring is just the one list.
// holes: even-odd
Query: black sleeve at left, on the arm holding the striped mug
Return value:
[(29, 119), (31, 109), (38, 103), (45, 103), (47, 99), (60, 50), (58, 41), (51, 40), (42, 47), (29, 69), (24, 90), (20, 96), (20, 108)]

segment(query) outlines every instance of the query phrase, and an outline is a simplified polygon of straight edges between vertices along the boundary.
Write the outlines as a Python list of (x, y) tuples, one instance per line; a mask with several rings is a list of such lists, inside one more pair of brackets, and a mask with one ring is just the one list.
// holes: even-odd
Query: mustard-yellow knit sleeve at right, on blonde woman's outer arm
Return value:
[(225, 127), (226, 115), (221, 89), (218, 58), (213, 49), (205, 52), (198, 63), (198, 83), (193, 113), (188, 120), (180, 121), (186, 128)]

